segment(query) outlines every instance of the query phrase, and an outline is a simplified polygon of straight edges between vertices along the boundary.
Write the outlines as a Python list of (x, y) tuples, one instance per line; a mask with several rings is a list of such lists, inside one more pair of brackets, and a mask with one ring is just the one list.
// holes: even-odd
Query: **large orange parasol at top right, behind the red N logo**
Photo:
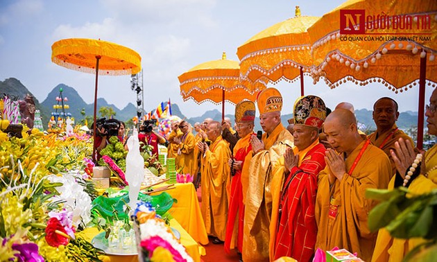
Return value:
[(351, 80), (406, 91), (419, 83), (418, 148), (422, 148), (425, 82), (437, 82), (437, 1), (350, 0), (308, 28), (314, 82), (335, 88)]

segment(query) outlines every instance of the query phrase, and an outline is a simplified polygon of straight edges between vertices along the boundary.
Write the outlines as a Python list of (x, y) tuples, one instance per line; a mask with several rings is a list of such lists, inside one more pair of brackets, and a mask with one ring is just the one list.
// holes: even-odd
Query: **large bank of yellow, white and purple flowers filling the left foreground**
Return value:
[(21, 139), (0, 131), (0, 261), (100, 261), (101, 250), (76, 236), (96, 194), (76, 159), (91, 148), (26, 126)]

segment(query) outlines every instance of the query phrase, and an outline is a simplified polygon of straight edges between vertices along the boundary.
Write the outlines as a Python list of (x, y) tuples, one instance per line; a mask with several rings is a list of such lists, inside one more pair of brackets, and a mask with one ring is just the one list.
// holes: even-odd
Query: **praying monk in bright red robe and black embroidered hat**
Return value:
[(326, 165), (326, 148), (319, 143), (318, 133), (326, 118), (325, 103), (318, 96), (299, 98), (293, 118), (294, 148), (287, 148), (274, 168), (271, 261), (283, 256), (311, 261), (316, 244), (317, 175)]

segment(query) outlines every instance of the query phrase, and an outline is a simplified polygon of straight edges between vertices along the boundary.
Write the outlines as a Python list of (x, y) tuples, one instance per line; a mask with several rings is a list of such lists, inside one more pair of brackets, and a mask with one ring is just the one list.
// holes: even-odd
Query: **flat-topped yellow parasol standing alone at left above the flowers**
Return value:
[(131, 75), (141, 71), (141, 56), (126, 46), (101, 40), (70, 38), (51, 46), (51, 60), (62, 67), (96, 74), (94, 89), (94, 146), (96, 160), (96, 111), (98, 74), (104, 76)]

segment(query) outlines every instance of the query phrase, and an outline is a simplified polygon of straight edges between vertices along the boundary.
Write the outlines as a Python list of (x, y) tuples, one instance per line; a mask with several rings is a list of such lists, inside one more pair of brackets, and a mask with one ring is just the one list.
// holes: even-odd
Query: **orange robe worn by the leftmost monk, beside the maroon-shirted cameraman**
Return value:
[(194, 166), (194, 148), (196, 148), (196, 139), (191, 132), (188, 132), (186, 136), (182, 135), (181, 139), (182, 143), (177, 146), (178, 156), (176, 157), (176, 168), (182, 168), (182, 174), (193, 175), (197, 170), (197, 166)]

